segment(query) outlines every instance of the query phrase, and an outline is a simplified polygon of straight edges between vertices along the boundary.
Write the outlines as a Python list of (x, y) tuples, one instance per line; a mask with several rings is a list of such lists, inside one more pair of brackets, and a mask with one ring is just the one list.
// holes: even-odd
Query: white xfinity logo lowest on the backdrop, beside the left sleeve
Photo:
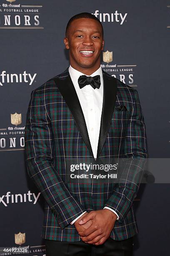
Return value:
[(35, 193), (31, 193), (30, 190), (28, 191), (28, 193), (26, 194), (15, 194), (15, 195), (11, 195), (11, 192), (8, 191), (6, 193), (6, 195), (2, 195), (0, 197), (0, 204), (4, 205), (5, 207), (7, 207), (8, 204), (13, 204), (13, 203), (22, 203), (22, 202), (33, 202), (33, 205), (36, 204), (38, 197), (40, 196), (40, 192), (37, 194), (37, 196), (35, 195)]

